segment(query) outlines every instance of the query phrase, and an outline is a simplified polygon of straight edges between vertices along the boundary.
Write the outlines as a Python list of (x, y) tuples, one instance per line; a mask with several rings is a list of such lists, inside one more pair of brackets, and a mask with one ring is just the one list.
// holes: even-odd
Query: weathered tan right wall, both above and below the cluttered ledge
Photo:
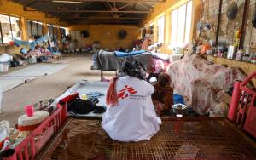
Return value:
[[(223, 1), (221, 20), (220, 20), (220, 30), (218, 34), (219, 43), (233, 45), (235, 31), (236, 29), (241, 28), (245, 0), (235, 0), (235, 2), (238, 5), (238, 14), (236, 15), (236, 18), (234, 20), (228, 20), (226, 12), (227, 12), (230, 0)], [(245, 35), (245, 41), (243, 46), (243, 48), (246, 49), (247, 45), (251, 45), (251, 43), (254, 43), (254, 45), (251, 46), (251, 54), (252, 53), (256, 54), (256, 45), (255, 45), (256, 28), (253, 28), (253, 25), (252, 25), (252, 16), (253, 16), (255, 3), (256, 1), (253, 1), (253, 0), (250, 1), (250, 7), (248, 9), (246, 35)], [(207, 17), (208, 15), (207, 19), (210, 21), (213, 27), (217, 26), (217, 23), (218, 23), (218, 5), (219, 3), (216, 0), (206, 0), (205, 3), (203, 4), (202, 17)], [(211, 34), (204, 34), (201, 38), (205, 40), (209, 40), (209, 39), (215, 40), (216, 32), (214, 31), (215, 30), (212, 30), (212, 32), (210, 32)], [(247, 63), (247, 62), (237, 61), (237, 60), (228, 60), (225, 58), (218, 58), (218, 57), (212, 57), (212, 56), (208, 56), (208, 59), (214, 60), (215, 63), (217, 64), (241, 68), (241, 70), (244, 71), (247, 75), (253, 71), (256, 71), (256, 65), (253, 63)], [(253, 83), (256, 86), (256, 81), (253, 81)]]

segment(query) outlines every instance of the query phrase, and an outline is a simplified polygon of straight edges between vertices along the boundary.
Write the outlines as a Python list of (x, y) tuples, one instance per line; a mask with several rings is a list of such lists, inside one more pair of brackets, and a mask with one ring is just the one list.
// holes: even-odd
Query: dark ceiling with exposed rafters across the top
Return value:
[[(0, 0), (1, 1), (1, 0)], [(24, 5), (26, 11), (41, 11), (45, 16), (60, 18), (67, 23), (137, 23), (150, 13), (155, 3), (166, 0), (12, 0)]]

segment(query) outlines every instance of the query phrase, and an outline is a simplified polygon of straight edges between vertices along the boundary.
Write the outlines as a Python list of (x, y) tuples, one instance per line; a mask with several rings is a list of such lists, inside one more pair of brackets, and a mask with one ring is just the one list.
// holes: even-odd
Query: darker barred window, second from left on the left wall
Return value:
[(26, 20), (28, 37), (38, 39), (43, 36), (43, 23), (33, 20)]

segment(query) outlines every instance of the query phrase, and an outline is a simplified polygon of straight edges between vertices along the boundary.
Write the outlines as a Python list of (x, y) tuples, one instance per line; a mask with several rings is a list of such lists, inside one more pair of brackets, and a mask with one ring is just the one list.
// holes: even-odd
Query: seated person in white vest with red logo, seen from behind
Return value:
[(161, 124), (151, 100), (154, 87), (143, 80), (146, 71), (137, 60), (125, 61), (121, 72), (109, 83), (102, 128), (113, 140), (150, 140)]

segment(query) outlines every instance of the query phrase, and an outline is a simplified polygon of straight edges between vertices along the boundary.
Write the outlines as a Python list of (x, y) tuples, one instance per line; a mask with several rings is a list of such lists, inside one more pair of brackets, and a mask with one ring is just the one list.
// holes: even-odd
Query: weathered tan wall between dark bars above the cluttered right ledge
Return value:
[[(228, 20), (226, 12), (229, 6), (230, 1), (224, 1), (222, 5), (221, 19), (220, 19), (220, 30), (218, 33), (218, 42), (225, 43), (227, 45), (232, 45), (234, 43), (234, 34), (236, 29), (241, 29), (242, 15), (244, 10), (245, 0), (235, 0), (238, 5), (238, 14), (234, 20)], [(250, 1), (250, 7), (248, 9), (248, 18), (247, 18), (247, 27), (246, 35), (244, 41), (244, 49), (247, 45), (251, 43), (256, 43), (256, 28), (253, 28), (252, 25), (252, 16), (254, 11), (256, 1)], [(212, 26), (217, 26), (218, 21), (218, 1), (215, 0), (206, 0), (203, 5), (203, 14), (202, 17), (208, 15), (208, 19)], [(212, 32), (211, 35), (204, 35), (204, 39), (215, 39), (216, 32)], [(252, 46), (252, 50), (256, 52), (256, 46)]]

